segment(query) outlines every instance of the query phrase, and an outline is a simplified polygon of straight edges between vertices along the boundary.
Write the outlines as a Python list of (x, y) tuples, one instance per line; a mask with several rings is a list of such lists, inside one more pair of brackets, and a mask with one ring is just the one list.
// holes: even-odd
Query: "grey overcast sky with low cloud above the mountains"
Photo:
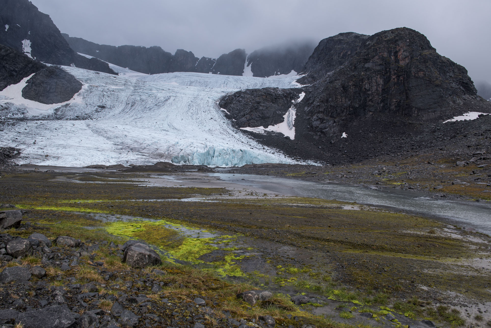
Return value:
[(218, 57), (340, 32), (410, 27), (491, 82), (491, 0), (31, 0), (61, 32), (109, 44)]

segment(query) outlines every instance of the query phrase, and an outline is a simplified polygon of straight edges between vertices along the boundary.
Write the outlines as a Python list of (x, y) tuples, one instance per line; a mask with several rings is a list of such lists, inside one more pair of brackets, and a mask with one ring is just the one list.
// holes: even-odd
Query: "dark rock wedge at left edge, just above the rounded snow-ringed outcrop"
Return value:
[(46, 67), (46, 65), (2, 44), (0, 44), (0, 58), (0, 91), (10, 84), (21, 82), (22, 79)]

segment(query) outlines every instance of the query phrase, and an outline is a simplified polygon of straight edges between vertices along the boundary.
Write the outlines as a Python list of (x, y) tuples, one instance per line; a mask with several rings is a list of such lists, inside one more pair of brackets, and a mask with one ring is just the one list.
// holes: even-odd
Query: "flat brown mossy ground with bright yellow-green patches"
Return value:
[[(490, 273), (463, 262), (489, 257), (490, 239), (458, 229), (445, 233), (448, 226), (435, 220), (369, 208), (344, 210), (339, 206), (344, 202), (301, 197), (179, 201), (175, 199), (214, 197), (225, 191), (77, 183), (68, 176), (9, 174), (1, 179), (0, 202), (27, 209), (26, 218), (44, 227), (49, 237), (104, 237), (116, 243), (142, 239), (160, 248), (172, 266), (185, 261), (227, 283), (319, 295), (348, 301), (358, 309), (390, 305), (407, 317), (452, 324), (457, 319), (451, 318), (449, 308), (435, 310), (448, 301), (445, 293), (482, 302), (491, 299)], [(88, 213), (154, 221), (103, 222)], [(214, 236), (190, 237), (176, 227)], [(410, 305), (408, 300), (421, 303)]]

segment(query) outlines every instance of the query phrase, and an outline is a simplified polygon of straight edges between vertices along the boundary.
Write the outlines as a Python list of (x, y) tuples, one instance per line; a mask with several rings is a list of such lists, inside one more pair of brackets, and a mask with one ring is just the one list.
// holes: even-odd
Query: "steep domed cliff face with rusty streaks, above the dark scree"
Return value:
[[(334, 48), (348, 54), (353, 42), (347, 46), (344, 51), (339, 45)], [(306, 69), (319, 67), (311, 63), (322, 64), (322, 58), (329, 62), (330, 56), (314, 52)], [(302, 109), (317, 135), (339, 134), (346, 125), (375, 114), (424, 121), (453, 116), (465, 108), (489, 109), (476, 95), (465, 68), (438, 55), (423, 34), (409, 28), (365, 38), (341, 66), (324, 76), (325, 70), (314, 72), (319, 80), (306, 88)]]

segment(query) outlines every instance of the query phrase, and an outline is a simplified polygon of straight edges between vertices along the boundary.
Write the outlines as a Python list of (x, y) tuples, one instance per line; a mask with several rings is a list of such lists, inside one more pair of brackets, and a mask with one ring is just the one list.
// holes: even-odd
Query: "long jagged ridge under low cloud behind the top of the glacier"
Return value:
[(252, 76), (300, 73), (314, 49), (310, 42), (262, 48), (246, 55), (246, 50), (236, 49), (218, 58), (195, 57), (190, 51), (178, 49), (174, 55), (161, 47), (108, 46), (90, 42), (62, 33), (70, 47), (80, 54), (97, 57), (111, 64), (128, 67), (145, 73), (197, 72), (221, 75), (243, 75), (249, 67)]

